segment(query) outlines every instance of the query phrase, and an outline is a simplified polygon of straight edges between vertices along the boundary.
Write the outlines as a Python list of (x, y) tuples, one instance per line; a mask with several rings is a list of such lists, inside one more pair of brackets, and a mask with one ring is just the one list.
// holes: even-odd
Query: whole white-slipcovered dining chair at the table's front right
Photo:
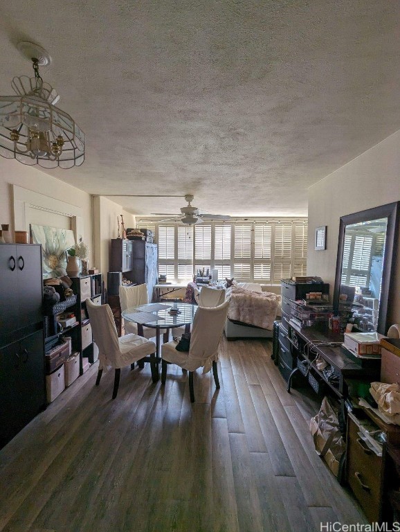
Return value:
[(167, 342), (161, 346), (162, 371), (161, 384), (165, 384), (167, 364), (176, 364), (189, 371), (190, 400), (194, 402), (193, 372), (203, 368), (203, 373), (212, 369), (215, 386), (219, 389), (218, 379), (218, 344), (224, 330), (226, 315), (228, 314), (229, 301), (218, 307), (197, 308), (194, 315), (190, 348), (188, 352), (176, 351), (178, 342)]

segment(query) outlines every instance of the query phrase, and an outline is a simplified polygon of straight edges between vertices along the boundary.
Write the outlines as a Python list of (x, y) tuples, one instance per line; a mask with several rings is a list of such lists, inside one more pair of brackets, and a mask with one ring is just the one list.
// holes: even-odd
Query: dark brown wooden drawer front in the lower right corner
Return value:
[(358, 426), (349, 418), (347, 481), (371, 522), (381, 518), (383, 458), (368, 449), (358, 436)]

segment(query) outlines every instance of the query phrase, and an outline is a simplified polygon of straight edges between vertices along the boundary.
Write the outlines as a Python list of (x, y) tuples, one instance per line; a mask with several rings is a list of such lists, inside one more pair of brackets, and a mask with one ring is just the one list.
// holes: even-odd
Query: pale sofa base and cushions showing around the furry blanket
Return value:
[[(275, 319), (278, 319), (280, 317), (280, 286), (271, 287), (269, 285), (260, 285), (258, 283), (235, 283), (234, 286), (237, 286), (244, 290), (248, 290), (250, 292), (269, 292), (269, 294), (276, 295), (278, 299), (278, 309), (276, 312)], [(273, 292), (274, 289), (275, 292)], [(226, 290), (226, 297), (230, 297), (229, 289)], [(246, 298), (246, 301), (249, 301), (248, 297)], [(271, 326), (271, 323), (269, 323), (269, 328), (254, 326), (249, 323), (243, 323), (237, 320), (230, 319), (229, 312), (228, 319), (226, 319), (224, 331), (228, 340), (246, 338), (272, 338), (273, 336), (273, 327)]]

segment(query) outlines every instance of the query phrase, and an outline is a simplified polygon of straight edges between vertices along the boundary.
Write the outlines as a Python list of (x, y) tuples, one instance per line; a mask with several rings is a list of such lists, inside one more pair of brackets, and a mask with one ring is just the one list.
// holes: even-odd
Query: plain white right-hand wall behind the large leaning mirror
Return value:
[[(309, 188), (307, 274), (322, 277), (333, 295), (340, 216), (399, 200), (400, 130)], [(315, 251), (315, 229), (322, 225), (327, 226), (327, 249)], [(388, 319), (400, 323), (400, 253)]]

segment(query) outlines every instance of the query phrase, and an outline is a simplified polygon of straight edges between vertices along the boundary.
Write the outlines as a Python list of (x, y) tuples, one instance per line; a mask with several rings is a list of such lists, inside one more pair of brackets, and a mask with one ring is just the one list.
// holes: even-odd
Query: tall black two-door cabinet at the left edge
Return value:
[(0, 445), (46, 407), (42, 247), (0, 245)]

